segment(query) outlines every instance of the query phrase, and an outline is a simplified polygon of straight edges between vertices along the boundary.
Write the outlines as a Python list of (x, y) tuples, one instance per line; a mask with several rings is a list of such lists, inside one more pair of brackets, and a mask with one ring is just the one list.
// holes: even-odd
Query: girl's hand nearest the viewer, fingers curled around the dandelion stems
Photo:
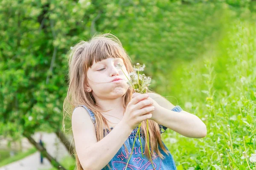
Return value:
[(132, 130), (138, 127), (143, 120), (152, 117), (152, 113), (149, 112), (154, 111), (154, 106), (150, 106), (153, 102), (146, 100), (147, 98), (148, 94), (140, 94), (131, 99), (131, 102), (127, 105), (122, 121), (131, 127)]

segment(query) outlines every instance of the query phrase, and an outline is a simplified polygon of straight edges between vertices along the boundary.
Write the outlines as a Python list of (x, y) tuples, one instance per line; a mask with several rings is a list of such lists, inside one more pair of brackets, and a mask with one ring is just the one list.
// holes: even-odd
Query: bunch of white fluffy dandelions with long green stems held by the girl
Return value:
[[(120, 64), (119, 64), (119, 67), (122, 70), (122, 67), (121, 67)], [(134, 72), (131, 72), (129, 74), (130, 79), (125, 75), (126, 78), (128, 79), (128, 82), (127, 82), (128, 85), (130, 85), (134, 89), (135, 92), (140, 93), (140, 94), (147, 93), (148, 86), (150, 85), (150, 82), (151, 82), (151, 77), (147, 77), (147, 76), (145, 76), (145, 74), (142, 74), (142, 75), (140, 74), (140, 71), (144, 71), (144, 68), (145, 68), (145, 64), (140, 65), (140, 63), (137, 63), (137, 65), (134, 66)], [(125, 74), (125, 72), (123, 70), (122, 70), (122, 72)], [(141, 153), (142, 153), (142, 157), (144, 157), (143, 147), (142, 147), (142, 143), (141, 143), (141, 139), (140, 139), (140, 126), (141, 126), (141, 123), (138, 126), (138, 131), (137, 131), (136, 136), (135, 136), (134, 144), (135, 144), (137, 135), (139, 134)], [(147, 119), (147, 135), (146, 136), (147, 136), (149, 157), (150, 157), (151, 164), (154, 168), (154, 165), (153, 165), (153, 162), (152, 162), (152, 159), (151, 159), (150, 148), (149, 148), (148, 119)], [(133, 153), (134, 144), (133, 144), (132, 149), (131, 149), (131, 155)], [(127, 161), (125, 170), (128, 166), (129, 160), (131, 159), (131, 155), (130, 155), (128, 161)], [(154, 168), (154, 170), (155, 170), (155, 168)]]

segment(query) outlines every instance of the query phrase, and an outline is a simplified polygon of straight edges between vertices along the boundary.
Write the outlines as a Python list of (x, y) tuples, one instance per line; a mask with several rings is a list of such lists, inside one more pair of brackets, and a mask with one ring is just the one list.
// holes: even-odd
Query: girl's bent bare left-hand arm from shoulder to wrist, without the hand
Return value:
[(81, 107), (73, 112), (72, 130), (76, 152), (84, 170), (101, 170), (105, 167), (132, 132), (131, 127), (121, 121), (97, 142), (94, 124)]

